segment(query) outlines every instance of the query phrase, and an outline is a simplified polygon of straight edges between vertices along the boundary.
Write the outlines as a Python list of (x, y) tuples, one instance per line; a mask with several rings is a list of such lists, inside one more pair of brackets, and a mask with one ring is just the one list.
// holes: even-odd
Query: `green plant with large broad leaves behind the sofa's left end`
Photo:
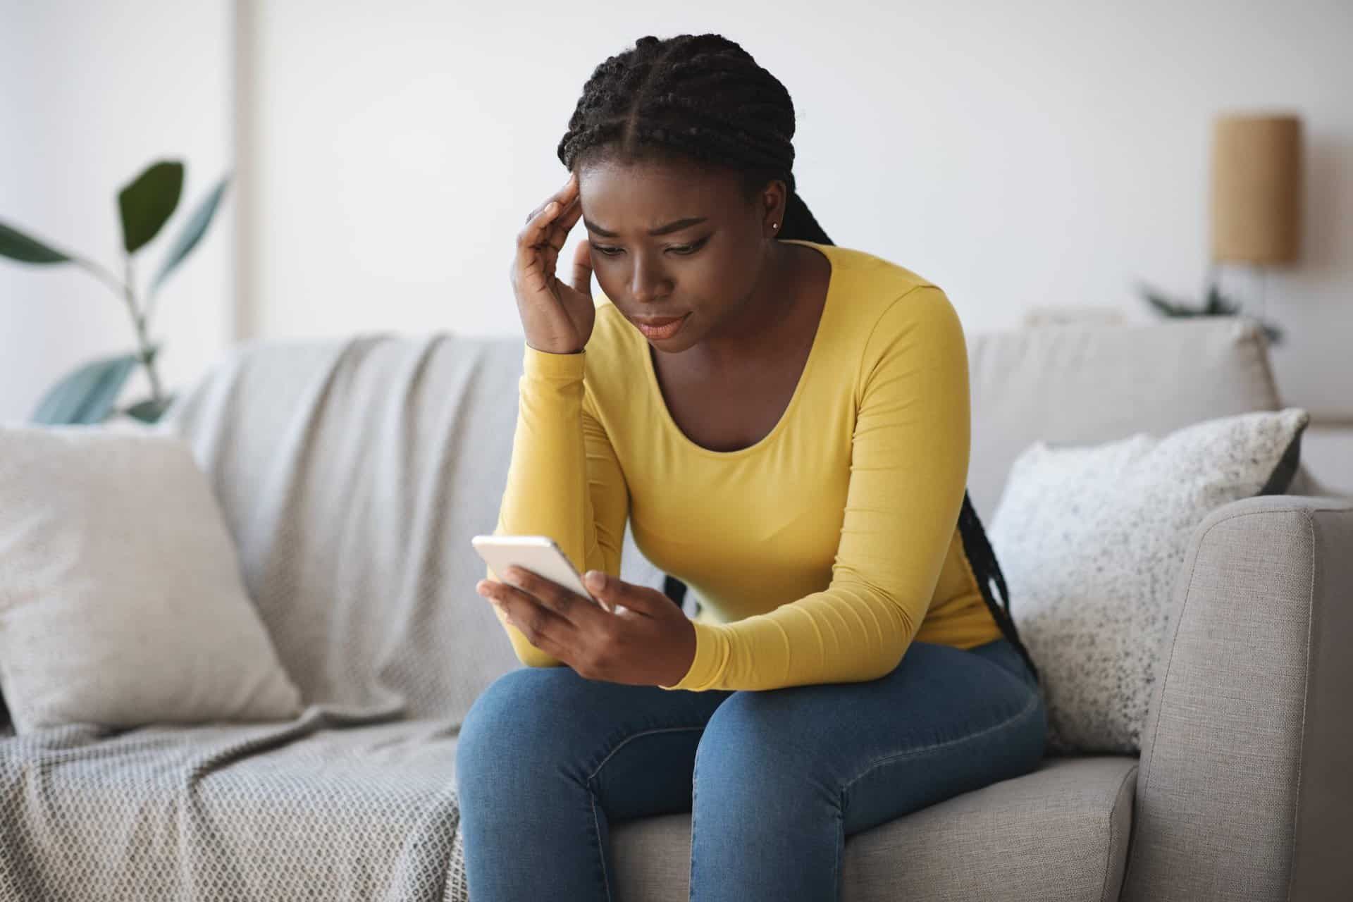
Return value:
[[(60, 264), (80, 266), (123, 300), (131, 316), (135, 335), (135, 350), (93, 360), (57, 381), (38, 403), (38, 408), (32, 414), (34, 422), (49, 425), (100, 423), (112, 415), (126, 414), (153, 423), (169, 407), (173, 395), (165, 394), (160, 375), (156, 372), (156, 352), (160, 345), (150, 339), (156, 300), (164, 281), (192, 253), (207, 233), (230, 183), (230, 176), (225, 176), (198, 204), (192, 215), (180, 226), (179, 234), (165, 252), (154, 279), (142, 291), (135, 280), (135, 254), (160, 234), (177, 210), (179, 197), (183, 193), (183, 162), (161, 160), (147, 166), (118, 192), (123, 249), (123, 275), (120, 279), (88, 257), (57, 249), (50, 242), (39, 241), (0, 220), (0, 257), (38, 266)], [(138, 364), (146, 371), (146, 377), (150, 381), (150, 396), (119, 408), (118, 398)]]

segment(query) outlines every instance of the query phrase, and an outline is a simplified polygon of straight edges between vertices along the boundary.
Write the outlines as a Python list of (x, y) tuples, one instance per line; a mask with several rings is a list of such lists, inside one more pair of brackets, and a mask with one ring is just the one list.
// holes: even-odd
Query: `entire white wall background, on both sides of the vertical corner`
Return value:
[[(0, 0), (0, 218), (116, 265), (114, 195), (141, 166), (185, 158), (191, 206), (234, 165), (162, 298), (170, 385), (235, 335), (518, 333), (513, 237), (561, 181), (553, 147), (593, 66), (643, 34), (713, 30), (794, 96), (800, 188), (838, 243), (934, 279), (969, 329), (1035, 304), (1147, 319), (1138, 277), (1201, 285), (1212, 116), (1295, 108), (1306, 258), (1268, 280), (1289, 333), (1275, 362), (1289, 403), (1353, 414), (1353, 4), (499, 8)], [(85, 273), (0, 261), (0, 419), (130, 339)]]

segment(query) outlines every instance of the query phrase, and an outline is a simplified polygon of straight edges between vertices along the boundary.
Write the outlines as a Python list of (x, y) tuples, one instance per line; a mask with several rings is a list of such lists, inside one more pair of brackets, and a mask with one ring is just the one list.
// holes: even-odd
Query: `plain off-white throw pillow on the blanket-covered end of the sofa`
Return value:
[(19, 733), (299, 713), (181, 438), (0, 425), (0, 690)]

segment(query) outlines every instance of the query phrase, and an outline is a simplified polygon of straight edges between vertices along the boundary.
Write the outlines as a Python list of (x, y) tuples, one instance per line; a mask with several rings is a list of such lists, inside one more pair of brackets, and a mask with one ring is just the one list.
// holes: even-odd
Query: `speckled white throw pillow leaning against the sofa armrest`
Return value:
[(1292, 407), (1016, 458), (990, 540), (1043, 678), (1051, 752), (1141, 749), (1189, 537), (1223, 504), (1283, 494), (1308, 421)]

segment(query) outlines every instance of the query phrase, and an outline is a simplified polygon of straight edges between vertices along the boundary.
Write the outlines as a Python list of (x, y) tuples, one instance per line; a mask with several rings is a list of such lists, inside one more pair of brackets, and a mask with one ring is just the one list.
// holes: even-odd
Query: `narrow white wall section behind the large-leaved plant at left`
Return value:
[[(116, 192), (161, 157), (187, 164), (180, 210), (138, 254), (147, 281), (176, 227), (231, 165), (225, 0), (0, 0), (0, 219), (122, 272)], [(154, 337), (166, 389), (230, 338), (231, 208), (165, 283)], [(134, 349), (123, 302), (73, 266), (0, 260), (0, 421), (88, 360)], [(138, 375), (123, 400), (149, 391)]]

